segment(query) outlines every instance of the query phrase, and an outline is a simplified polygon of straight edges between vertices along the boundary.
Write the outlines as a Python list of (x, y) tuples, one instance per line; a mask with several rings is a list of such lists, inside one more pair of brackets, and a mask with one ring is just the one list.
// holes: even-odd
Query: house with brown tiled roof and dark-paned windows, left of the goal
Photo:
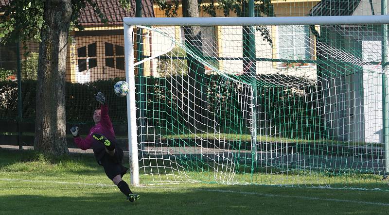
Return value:
[[(120, 5), (119, 0), (97, 0), (98, 7), (108, 19), (107, 24), (101, 23), (89, 5), (80, 12), (78, 22), (85, 30), (71, 32), (67, 81), (86, 83), (125, 77), (123, 18), (135, 17), (134, 2), (127, 10)], [(152, 1), (142, 0), (142, 4), (142, 16), (154, 17)]]

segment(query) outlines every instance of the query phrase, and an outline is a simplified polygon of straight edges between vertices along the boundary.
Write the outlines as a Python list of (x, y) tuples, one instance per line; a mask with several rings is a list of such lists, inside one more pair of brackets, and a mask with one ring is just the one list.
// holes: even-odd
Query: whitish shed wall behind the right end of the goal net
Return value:
[[(322, 32), (328, 54), (322, 60), (336, 61), (342, 53), (354, 56), (350, 58), (354, 65), (328, 64), (325, 78), (319, 80), (324, 89), (326, 136), (338, 141), (382, 142), (381, 66), (366, 64), (381, 61), (381, 41), (354, 39), (329, 29)], [(360, 66), (358, 61), (366, 65)]]

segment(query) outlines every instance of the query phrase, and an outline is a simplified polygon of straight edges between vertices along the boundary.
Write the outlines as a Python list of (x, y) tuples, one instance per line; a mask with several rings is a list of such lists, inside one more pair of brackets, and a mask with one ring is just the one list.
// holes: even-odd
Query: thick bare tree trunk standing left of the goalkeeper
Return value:
[(65, 72), (71, 0), (46, 0), (39, 44), (35, 150), (69, 153), (66, 143)]

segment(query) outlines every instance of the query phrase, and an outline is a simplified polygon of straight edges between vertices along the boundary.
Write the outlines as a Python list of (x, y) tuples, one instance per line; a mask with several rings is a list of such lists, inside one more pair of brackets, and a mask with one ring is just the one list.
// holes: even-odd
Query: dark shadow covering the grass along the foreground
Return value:
[[(358, 203), (358, 198), (350, 198), (354, 192), (336, 196), (332, 191), (306, 194), (306, 189), (265, 187), (259, 194), (249, 194), (242, 192), (248, 186), (229, 186), (229, 190), (237, 192), (222, 192), (220, 188), (224, 189), (135, 188), (141, 199), (128, 202), (114, 188), (106, 192), (90, 189), (80, 194), (75, 188), (62, 186), (49, 194), (2, 195), (0, 205), (5, 206), (1, 208), (3, 214), (384, 214), (389, 208)], [(377, 197), (372, 193), (360, 200), (374, 202), (374, 198)]]

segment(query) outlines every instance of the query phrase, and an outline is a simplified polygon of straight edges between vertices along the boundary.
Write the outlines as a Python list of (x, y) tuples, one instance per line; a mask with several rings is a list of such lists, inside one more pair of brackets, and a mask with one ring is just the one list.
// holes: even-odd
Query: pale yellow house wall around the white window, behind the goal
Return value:
[[(306, 16), (309, 13), (309, 10), (315, 6), (319, 1), (318, 0), (294, 0), (294, 1), (273, 1), (274, 11), (276, 16)], [(156, 17), (164, 17), (164, 12), (160, 11), (157, 6), (154, 7)], [(179, 7), (177, 11), (178, 17), (182, 15), (182, 8)], [(207, 17), (204, 12), (200, 11), (200, 17)], [(230, 14), (230, 16), (234, 16)], [(222, 10), (216, 11), (216, 17), (224, 17)], [(175, 38), (176, 41), (180, 42), (181, 38), (181, 29), (174, 27), (158, 27), (160, 31), (163, 31), (169, 35), (168, 37)], [(279, 58), (279, 40), (278, 40), (278, 27), (277, 26), (267, 26), (267, 29), (271, 32), (273, 39), (273, 47), (269, 45), (267, 41), (263, 40), (260, 31), (255, 33), (255, 43), (256, 43), (256, 56), (258, 58), (266, 58), (265, 61), (257, 61), (256, 68), (258, 74), (274, 74), (281, 73), (285, 75), (293, 76), (306, 76), (311, 79), (316, 79), (316, 66), (314, 64), (305, 65), (305, 66), (295, 66), (295, 67), (282, 67), (278, 63), (271, 62), (271, 59)], [(150, 33), (148, 33), (150, 35)], [(171, 44), (171, 40), (162, 36), (160, 33), (153, 32), (151, 33), (152, 41), (154, 45), (151, 49), (147, 41), (145, 42), (144, 47), (147, 49), (147, 53), (151, 51), (153, 54), (161, 53), (163, 50), (167, 50)], [(217, 41), (217, 55), (218, 57), (224, 57), (226, 60), (219, 62), (218, 69), (221, 71), (240, 74), (244, 71), (243, 62), (239, 60), (227, 60), (227, 58), (241, 58), (243, 57), (242, 49), (242, 27), (240, 26), (218, 26), (215, 28), (215, 33), (213, 35)], [(315, 58), (315, 42), (314, 37), (311, 35), (311, 56), (312, 59)], [(150, 68), (150, 70), (156, 71), (158, 68), (157, 60), (152, 60), (152, 67), (149, 66), (149, 63), (145, 63), (145, 68)], [(145, 69), (145, 75), (155, 74), (157, 72), (147, 71)]]

